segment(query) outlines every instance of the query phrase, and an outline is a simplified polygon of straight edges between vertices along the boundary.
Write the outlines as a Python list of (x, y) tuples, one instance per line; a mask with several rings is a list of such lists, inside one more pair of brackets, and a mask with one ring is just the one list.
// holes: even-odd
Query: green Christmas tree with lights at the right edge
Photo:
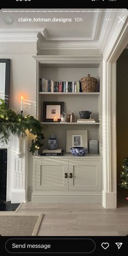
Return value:
[[(123, 164), (121, 166), (121, 175), (120, 175), (120, 181), (119, 183), (121, 188), (128, 189), (128, 157), (125, 157), (123, 159)], [(126, 200), (128, 200), (128, 196), (126, 197)]]

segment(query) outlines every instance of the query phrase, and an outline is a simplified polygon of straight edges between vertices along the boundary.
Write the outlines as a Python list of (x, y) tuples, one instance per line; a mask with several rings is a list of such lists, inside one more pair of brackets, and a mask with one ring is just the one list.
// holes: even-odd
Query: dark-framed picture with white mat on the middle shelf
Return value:
[(64, 102), (43, 101), (43, 122), (60, 121), (60, 115), (64, 111)]

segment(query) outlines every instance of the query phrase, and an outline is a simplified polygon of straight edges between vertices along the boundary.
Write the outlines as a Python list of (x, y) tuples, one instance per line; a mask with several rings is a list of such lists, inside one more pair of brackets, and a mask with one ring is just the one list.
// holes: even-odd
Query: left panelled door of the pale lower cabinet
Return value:
[(67, 190), (68, 162), (59, 158), (44, 158), (36, 161), (36, 190)]

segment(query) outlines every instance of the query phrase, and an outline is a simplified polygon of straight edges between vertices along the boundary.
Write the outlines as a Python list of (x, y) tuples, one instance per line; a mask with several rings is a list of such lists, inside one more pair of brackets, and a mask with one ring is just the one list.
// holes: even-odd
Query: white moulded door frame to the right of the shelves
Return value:
[(117, 208), (117, 60), (128, 43), (128, 18), (103, 54), (103, 207)]

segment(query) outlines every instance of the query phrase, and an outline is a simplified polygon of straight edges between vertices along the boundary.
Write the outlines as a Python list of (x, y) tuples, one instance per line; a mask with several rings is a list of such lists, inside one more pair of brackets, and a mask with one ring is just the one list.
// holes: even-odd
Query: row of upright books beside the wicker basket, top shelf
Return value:
[(81, 92), (80, 81), (54, 82), (50, 79), (40, 78), (39, 92)]

